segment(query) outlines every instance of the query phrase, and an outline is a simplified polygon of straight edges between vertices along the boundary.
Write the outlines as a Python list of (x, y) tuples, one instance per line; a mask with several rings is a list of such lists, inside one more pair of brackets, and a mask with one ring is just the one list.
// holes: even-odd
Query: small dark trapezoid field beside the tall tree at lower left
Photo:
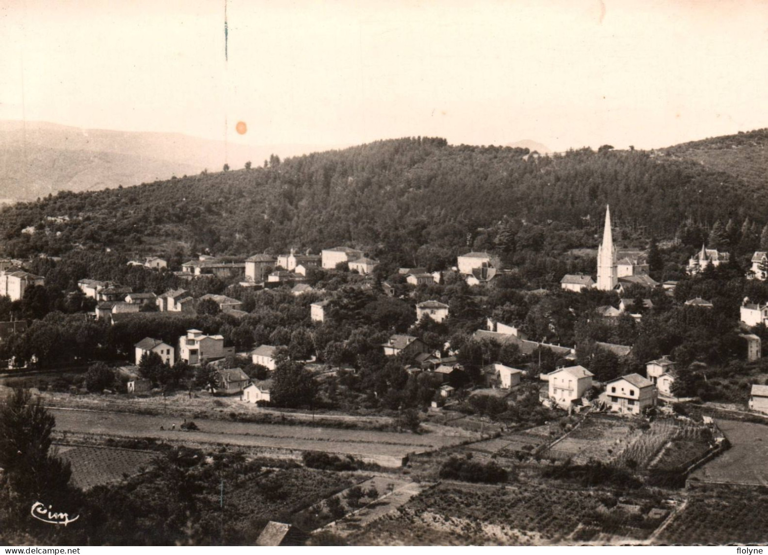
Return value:
[(72, 484), (89, 490), (139, 474), (157, 456), (148, 451), (114, 447), (61, 447), (61, 458), (72, 468)]

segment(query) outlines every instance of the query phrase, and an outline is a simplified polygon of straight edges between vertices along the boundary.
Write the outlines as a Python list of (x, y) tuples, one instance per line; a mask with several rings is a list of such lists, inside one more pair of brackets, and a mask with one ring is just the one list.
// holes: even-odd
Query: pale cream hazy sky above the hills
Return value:
[(229, 0), (228, 61), (224, 7), (0, 0), (0, 119), (556, 151), (768, 127), (765, 1)]

